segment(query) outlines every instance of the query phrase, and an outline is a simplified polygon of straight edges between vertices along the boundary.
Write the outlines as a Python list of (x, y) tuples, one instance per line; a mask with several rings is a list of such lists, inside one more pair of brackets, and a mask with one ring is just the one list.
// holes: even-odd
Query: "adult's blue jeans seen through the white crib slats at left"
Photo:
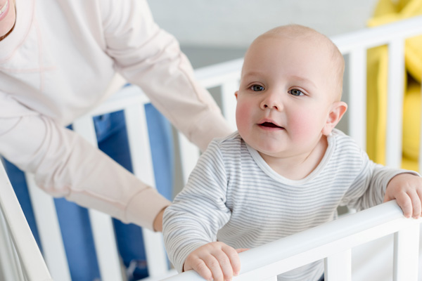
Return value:
[[(153, 105), (145, 106), (148, 134), (151, 142), (151, 154), (155, 184), (158, 191), (172, 199), (173, 187), (173, 146), (170, 123)], [(123, 112), (94, 117), (98, 148), (116, 162), (132, 171), (127, 131)], [(71, 129), (71, 126), (70, 126)], [(37, 223), (32, 211), (32, 204), (27, 192), (24, 174), (10, 162), (5, 161), (6, 171), (21, 204), (28, 224), (41, 251)], [(87, 209), (68, 202), (64, 198), (54, 199), (58, 221), (63, 235), (65, 251), (69, 261), (70, 274), (74, 281), (92, 281), (100, 278), (94, 239), (89, 223)], [(127, 267), (128, 280), (138, 280), (148, 276), (142, 232), (139, 226), (125, 224), (113, 218), (117, 247), (124, 266)]]

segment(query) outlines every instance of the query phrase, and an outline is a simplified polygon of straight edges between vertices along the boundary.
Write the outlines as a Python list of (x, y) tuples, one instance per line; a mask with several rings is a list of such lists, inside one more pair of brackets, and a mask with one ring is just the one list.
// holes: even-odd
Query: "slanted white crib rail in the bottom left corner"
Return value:
[[(12, 185), (8, 181), (8, 176), (4, 170), (3, 164), (0, 162), (0, 209), (4, 222), (6, 222), (8, 233), (10, 234), (11, 240), (13, 241), (13, 248), (16, 250), (15, 254), (8, 247), (10, 252), (10, 258), (15, 263), (15, 275), (14, 277), (19, 279), (14, 280), (23, 280), (22, 275), (18, 272), (22, 268), (23, 276), (27, 280), (31, 281), (49, 281), (52, 280), (49, 270), (44, 262), (43, 256), (39, 251), (37, 242), (35, 242), (30, 226), (26, 221), (25, 215), (23, 214), (22, 209), (20, 209), (20, 204), (18, 198), (15, 196)], [(2, 228), (4, 229), (4, 228)], [(8, 245), (11, 245), (8, 243)], [(6, 251), (2, 248), (1, 251)], [(16, 259), (18, 257), (18, 259)], [(11, 262), (11, 261), (9, 261)], [(13, 262), (14, 263), (14, 262)], [(9, 263), (11, 264), (11, 263)]]

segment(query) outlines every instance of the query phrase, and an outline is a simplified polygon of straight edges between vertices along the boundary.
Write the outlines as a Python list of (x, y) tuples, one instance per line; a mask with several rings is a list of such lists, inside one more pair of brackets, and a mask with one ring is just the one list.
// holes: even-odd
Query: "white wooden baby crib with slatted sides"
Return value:
[[(404, 39), (418, 34), (422, 34), (422, 17), (332, 38), (340, 51), (348, 55), (346, 73), (349, 75), (350, 87), (345, 90), (349, 97), (348, 134), (363, 148), (366, 143), (366, 49), (384, 44), (389, 46), (388, 72), (389, 77), (395, 77), (390, 79), (388, 84), (389, 126), (386, 153), (389, 166), (398, 167), (402, 157), (402, 139), (401, 134), (397, 132), (402, 131)], [(219, 87), (222, 111), (234, 127), (234, 91), (238, 88), (241, 65), (242, 60), (239, 59), (196, 70), (203, 86)], [(148, 99), (141, 90), (135, 86), (126, 87), (97, 110), (77, 120), (74, 129), (92, 143), (96, 143), (92, 116), (124, 110), (134, 174), (144, 182), (154, 185), (148, 131), (143, 112), (145, 103), (148, 103)], [(177, 139), (181, 155), (181, 178), (186, 182), (199, 152), (181, 134), (177, 135)], [(422, 159), (419, 159), (419, 163), (422, 167)], [(33, 238), (33, 241), (30, 239), (32, 235), (27, 225), (25, 226), (22, 212), (16, 210), (19, 209), (16, 206), (17, 201), (13, 192), (10, 192), (6, 174), (2, 167), (0, 168), (0, 205), (6, 218), (6, 223), (0, 225), (0, 230), (8, 230), (0, 232), (0, 243), (9, 249), (0, 251), (0, 273), (3, 274), (0, 279), (4, 277), (5, 280), (51, 280), (51, 273), (53, 280), (71, 280), (52, 198), (35, 187), (32, 176), (27, 175), (44, 249), (42, 257)], [(89, 214), (101, 280), (124, 280), (110, 217), (94, 210), (90, 210)], [(330, 281), (418, 280), (420, 222), (403, 218), (397, 204), (388, 202), (241, 253), (241, 275), (235, 277), (235, 280), (267, 280), (318, 259), (325, 259), (326, 280)], [(15, 227), (19, 227), (20, 231), (13, 231)], [(162, 280), (175, 275), (174, 270), (167, 268), (161, 235), (148, 230), (144, 230), (143, 235), (150, 273), (150, 277), (145, 280)], [(364, 244), (371, 240), (376, 241)], [(22, 246), (20, 242), (25, 244)], [(12, 245), (14, 247), (11, 247)], [(390, 250), (388, 258), (385, 251)], [(385, 259), (388, 263), (385, 263)], [(202, 279), (196, 273), (187, 272), (166, 280)]]

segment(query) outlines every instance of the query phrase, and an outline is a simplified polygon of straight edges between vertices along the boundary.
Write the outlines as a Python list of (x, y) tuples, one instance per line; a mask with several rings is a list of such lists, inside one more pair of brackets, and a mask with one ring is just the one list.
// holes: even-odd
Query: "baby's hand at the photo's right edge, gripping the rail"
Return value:
[(419, 218), (422, 211), (422, 178), (414, 174), (398, 174), (385, 190), (384, 202), (397, 200), (404, 216)]

